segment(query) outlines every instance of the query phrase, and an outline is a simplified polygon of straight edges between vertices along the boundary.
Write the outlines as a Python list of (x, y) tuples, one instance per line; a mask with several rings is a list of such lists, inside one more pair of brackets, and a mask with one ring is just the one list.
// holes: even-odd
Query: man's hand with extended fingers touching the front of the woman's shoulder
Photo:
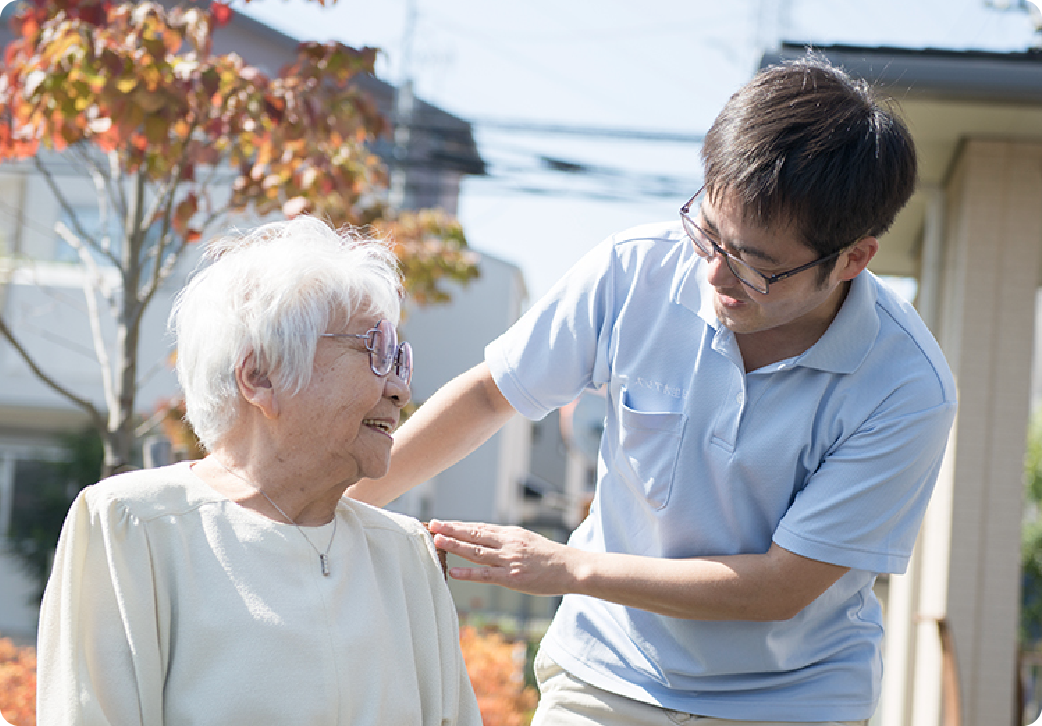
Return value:
[(457, 580), (491, 582), (529, 595), (574, 592), (575, 568), (584, 554), (521, 527), (430, 522), (435, 545), (477, 568), (449, 568)]

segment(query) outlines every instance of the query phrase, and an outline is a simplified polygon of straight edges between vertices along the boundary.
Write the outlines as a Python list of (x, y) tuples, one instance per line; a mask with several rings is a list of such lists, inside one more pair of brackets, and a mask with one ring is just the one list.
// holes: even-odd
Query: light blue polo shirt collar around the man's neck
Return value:
[[(699, 265), (697, 255), (685, 260), (690, 267), (680, 276), (675, 300), (697, 312), (719, 334), (726, 330), (713, 307), (713, 285), (708, 280), (708, 266)], [(876, 284), (867, 270), (850, 281), (850, 290), (825, 333), (793, 361), (797, 366), (830, 373), (853, 373), (868, 357), (879, 331), (876, 312)], [(727, 331), (729, 332), (729, 331)]]

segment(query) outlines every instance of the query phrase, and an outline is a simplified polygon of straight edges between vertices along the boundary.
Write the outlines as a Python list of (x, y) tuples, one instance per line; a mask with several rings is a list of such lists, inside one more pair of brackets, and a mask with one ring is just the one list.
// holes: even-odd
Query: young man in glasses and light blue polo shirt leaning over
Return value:
[(568, 545), (440, 522), (460, 579), (564, 595), (537, 724), (862, 723), (877, 573), (908, 564), (956, 410), (940, 349), (866, 266), (912, 194), (902, 122), (826, 61), (770, 68), (702, 149), (679, 224), (587, 254), (402, 427), (378, 503), (516, 412), (602, 386)]

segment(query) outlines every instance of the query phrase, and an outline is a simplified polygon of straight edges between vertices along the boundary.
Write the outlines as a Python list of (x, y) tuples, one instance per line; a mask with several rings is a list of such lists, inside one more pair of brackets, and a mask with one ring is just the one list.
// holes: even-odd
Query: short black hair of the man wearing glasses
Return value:
[[(727, 101), (702, 145), (706, 192), (760, 227), (794, 225), (825, 256), (883, 234), (915, 190), (912, 134), (819, 55), (758, 73)], [(824, 265), (822, 279), (833, 265)]]

